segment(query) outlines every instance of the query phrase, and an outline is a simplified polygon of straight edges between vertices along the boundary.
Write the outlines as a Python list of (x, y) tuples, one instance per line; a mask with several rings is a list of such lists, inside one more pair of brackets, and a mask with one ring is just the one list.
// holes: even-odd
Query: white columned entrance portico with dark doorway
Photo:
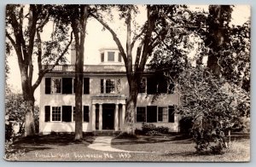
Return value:
[(122, 130), (125, 122), (125, 96), (91, 98), (91, 130)]

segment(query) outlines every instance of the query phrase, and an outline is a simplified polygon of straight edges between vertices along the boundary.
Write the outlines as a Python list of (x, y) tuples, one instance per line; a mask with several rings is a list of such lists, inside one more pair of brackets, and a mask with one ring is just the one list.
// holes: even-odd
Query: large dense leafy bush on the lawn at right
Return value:
[(201, 66), (184, 70), (178, 78), (181, 117), (192, 118), (191, 134), (200, 153), (224, 153), (226, 136), (250, 112), (250, 96), (235, 83), (218, 79)]

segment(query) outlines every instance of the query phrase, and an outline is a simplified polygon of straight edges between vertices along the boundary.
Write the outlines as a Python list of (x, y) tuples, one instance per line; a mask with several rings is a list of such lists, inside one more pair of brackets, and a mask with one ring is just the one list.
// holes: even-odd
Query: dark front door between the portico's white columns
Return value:
[(102, 105), (102, 130), (113, 130), (114, 104)]

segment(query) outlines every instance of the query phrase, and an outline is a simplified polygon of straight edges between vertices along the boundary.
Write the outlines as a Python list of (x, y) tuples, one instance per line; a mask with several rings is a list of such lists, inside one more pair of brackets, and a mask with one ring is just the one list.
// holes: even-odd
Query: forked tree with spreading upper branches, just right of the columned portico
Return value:
[[(124, 49), (119, 37), (113, 28), (111, 28), (107, 21), (103, 19), (102, 14), (91, 14), (98, 20), (104, 28), (108, 30), (113, 36), (113, 41), (117, 44), (120, 55), (125, 62), (126, 77), (129, 83), (129, 96), (125, 106), (125, 125), (124, 132), (134, 134), (134, 114), (137, 107), (138, 86), (141, 83), (143, 72), (145, 70), (146, 61), (152, 54), (154, 48), (165, 37), (166, 30), (168, 29), (166, 20), (163, 19), (164, 14), (172, 15), (178, 8), (176, 5), (147, 5), (147, 20), (141, 29), (132, 30), (132, 23), (136, 22), (135, 17), (137, 14), (136, 5), (118, 5), (115, 7), (119, 11), (119, 19), (125, 20), (126, 26), (126, 48)], [(131, 36), (131, 33), (133, 37)], [(135, 63), (133, 66), (132, 50), (135, 43), (137, 46), (137, 53), (135, 56)]]

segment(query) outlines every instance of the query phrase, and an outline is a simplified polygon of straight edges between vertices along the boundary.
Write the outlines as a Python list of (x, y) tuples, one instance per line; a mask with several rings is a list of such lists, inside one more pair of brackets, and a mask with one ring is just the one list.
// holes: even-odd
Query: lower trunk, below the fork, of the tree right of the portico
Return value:
[(136, 78), (127, 76), (130, 80), (129, 84), (129, 97), (125, 106), (125, 124), (123, 132), (129, 135), (134, 135), (135, 112), (137, 107), (138, 84)]

